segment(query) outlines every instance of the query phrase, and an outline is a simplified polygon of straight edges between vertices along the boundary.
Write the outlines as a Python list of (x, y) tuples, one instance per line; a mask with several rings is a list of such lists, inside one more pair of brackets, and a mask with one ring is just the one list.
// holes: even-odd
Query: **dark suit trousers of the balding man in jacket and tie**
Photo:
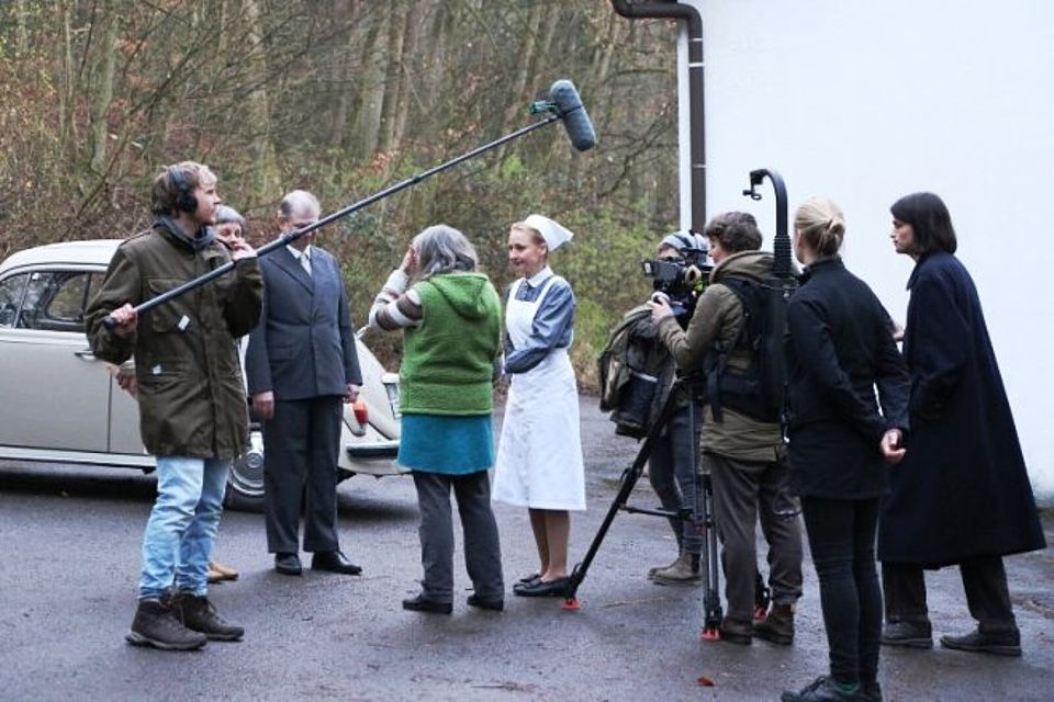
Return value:
[(264, 512), (267, 550), (296, 553), (301, 508), (304, 551), (336, 551), (338, 396), (278, 400), (264, 422)]

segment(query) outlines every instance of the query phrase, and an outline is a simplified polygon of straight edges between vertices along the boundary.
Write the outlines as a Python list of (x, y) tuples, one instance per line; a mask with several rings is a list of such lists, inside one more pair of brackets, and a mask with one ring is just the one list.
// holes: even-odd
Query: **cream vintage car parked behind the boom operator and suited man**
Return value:
[[(135, 399), (117, 385), (110, 364), (94, 358), (85, 336), (85, 307), (120, 244), (51, 244), (0, 263), (0, 458), (154, 469), (139, 439)], [(338, 476), (404, 473), (394, 463), (399, 377), (357, 343), (363, 401), (346, 406)], [(264, 461), (254, 426), (251, 449), (231, 472), (228, 505), (260, 507)]]

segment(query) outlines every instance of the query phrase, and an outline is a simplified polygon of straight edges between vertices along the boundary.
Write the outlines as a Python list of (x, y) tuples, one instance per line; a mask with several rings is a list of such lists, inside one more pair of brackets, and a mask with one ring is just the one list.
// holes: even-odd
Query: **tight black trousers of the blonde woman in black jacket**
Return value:
[(872, 682), (878, 675), (882, 590), (875, 568), (878, 498), (801, 498), (812, 564), (820, 579), (820, 607), (839, 682)]

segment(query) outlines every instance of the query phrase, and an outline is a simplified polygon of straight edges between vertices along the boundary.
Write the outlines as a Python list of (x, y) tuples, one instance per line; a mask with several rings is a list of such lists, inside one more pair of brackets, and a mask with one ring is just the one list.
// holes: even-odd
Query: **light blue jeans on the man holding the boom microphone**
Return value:
[(157, 499), (143, 534), (139, 599), (172, 590), (205, 595), (229, 460), (157, 460)]

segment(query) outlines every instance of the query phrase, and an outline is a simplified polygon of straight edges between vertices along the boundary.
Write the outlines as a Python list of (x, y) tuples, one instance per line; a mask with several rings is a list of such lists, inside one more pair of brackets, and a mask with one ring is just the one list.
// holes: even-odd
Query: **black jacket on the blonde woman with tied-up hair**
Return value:
[(908, 428), (908, 372), (889, 315), (841, 259), (806, 275), (787, 307), (790, 491), (875, 498), (888, 489), (882, 437)]

